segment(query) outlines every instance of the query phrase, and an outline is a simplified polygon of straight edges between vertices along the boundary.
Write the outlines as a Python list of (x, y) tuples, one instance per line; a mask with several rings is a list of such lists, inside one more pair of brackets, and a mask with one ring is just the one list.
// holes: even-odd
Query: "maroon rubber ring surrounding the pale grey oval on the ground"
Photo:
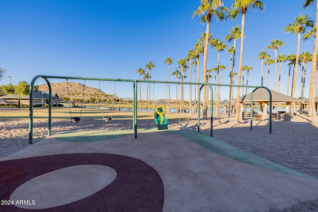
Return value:
[[(0, 186), (0, 200), (9, 200), (20, 185), (39, 175), (83, 164), (105, 165), (117, 176), (112, 183), (95, 194), (59, 207), (36, 211), (162, 211), (164, 189), (158, 172), (142, 160), (108, 153), (57, 154), (0, 161), (0, 166), (25, 170), (25, 175)], [(2, 182), (2, 179), (1, 181)], [(39, 191), (45, 192), (45, 191)], [(28, 197), (32, 200), (32, 197)], [(34, 211), (15, 206), (1, 206), (1, 212)]]

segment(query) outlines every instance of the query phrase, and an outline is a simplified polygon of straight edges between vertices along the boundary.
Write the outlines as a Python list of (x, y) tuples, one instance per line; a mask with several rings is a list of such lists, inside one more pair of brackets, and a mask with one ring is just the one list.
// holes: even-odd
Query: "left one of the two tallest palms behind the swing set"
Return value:
[[(195, 16), (202, 16), (201, 23), (206, 23), (206, 37), (203, 47), (203, 82), (206, 83), (207, 74), (207, 57), (208, 57), (208, 43), (210, 34), (210, 22), (211, 17), (215, 17), (217, 21), (224, 20), (228, 13), (228, 8), (223, 6), (222, 0), (201, 0), (201, 5), (192, 14), (192, 18)], [(203, 119), (207, 119), (208, 107), (206, 101), (206, 86), (204, 86), (203, 92)]]

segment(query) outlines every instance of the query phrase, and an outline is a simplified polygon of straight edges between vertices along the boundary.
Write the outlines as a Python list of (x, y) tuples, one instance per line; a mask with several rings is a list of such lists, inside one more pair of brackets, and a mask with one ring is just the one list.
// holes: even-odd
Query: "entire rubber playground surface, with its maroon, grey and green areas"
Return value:
[(1, 212), (269, 211), (318, 180), (190, 129), (81, 131), (0, 159)]

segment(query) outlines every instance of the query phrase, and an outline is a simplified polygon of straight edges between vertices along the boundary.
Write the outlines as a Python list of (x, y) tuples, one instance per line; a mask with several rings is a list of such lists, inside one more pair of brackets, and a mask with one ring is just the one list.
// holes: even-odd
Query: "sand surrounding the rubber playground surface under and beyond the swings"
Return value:
[[(253, 130), (250, 130), (250, 123), (240, 124), (234, 117), (229, 123), (220, 123), (226, 120), (227, 118), (224, 117), (220, 120), (218, 117), (214, 119), (214, 138), (318, 179), (318, 123), (312, 123), (308, 116), (299, 115), (291, 122), (273, 121), (272, 134), (269, 134), (268, 120), (253, 121)], [(187, 128), (182, 128), (178, 123), (178, 120), (169, 120), (169, 129), (197, 129), (195, 115), (191, 117)], [(156, 124), (152, 120), (138, 120), (138, 129), (140, 128), (156, 128)], [(108, 124), (102, 120), (82, 120), (74, 125), (66, 119), (54, 119), (51, 134), (121, 129), (132, 129), (132, 120), (114, 119)], [(47, 120), (35, 119), (33, 143), (47, 138), (47, 130)], [(200, 121), (200, 132), (210, 135), (210, 120)], [(28, 143), (28, 119), (0, 120), (0, 158), (30, 145), (32, 144)], [(310, 211), (311, 209), (318, 210), (318, 200), (308, 201), (284, 211)]]

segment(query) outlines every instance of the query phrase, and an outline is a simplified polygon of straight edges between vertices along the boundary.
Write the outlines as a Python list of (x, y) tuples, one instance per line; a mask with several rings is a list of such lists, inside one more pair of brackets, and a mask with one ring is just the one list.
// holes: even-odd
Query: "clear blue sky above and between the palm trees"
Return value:
[[(226, 0), (230, 7), (232, 0)], [(296, 54), (297, 36), (284, 34), (288, 24), (301, 14), (310, 14), (316, 19), (315, 7), (302, 9), (303, 0), (263, 0), (265, 11), (248, 10), (245, 18), (243, 66), (254, 69), (249, 74), (249, 85), (260, 85), (260, 51), (267, 51), (274, 59), (274, 52), (266, 49), (272, 39), (285, 42), (278, 54)], [(0, 0), (0, 67), (7, 69), (13, 84), (26, 80), (31, 82), (35, 75), (63, 75), (81, 77), (139, 79), (136, 70), (152, 61), (156, 66), (151, 71), (153, 80), (167, 80), (167, 57), (173, 59), (170, 74), (178, 68), (177, 61), (185, 58), (188, 51), (205, 32), (206, 25), (200, 18), (192, 19), (192, 13), (200, 0), (160, 1), (109, 1), (109, 0)], [(232, 26), (240, 25), (241, 17), (234, 21), (212, 20), (210, 32), (221, 40), (229, 34)], [(228, 47), (232, 43), (225, 42)], [(239, 50), (240, 40), (237, 41)], [(301, 42), (300, 53), (312, 53), (314, 39)], [(200, 81), (203, 81), (203, 56), (200, 58)], [(236, 58), (236, 72), (239, 54)], [(222, 73), (222, 83), (229, 83), (230, 55), (221, 53), (221, 64), (227, 67)], [(217, 52), (209, 47), (208, 69), (217, 66)], [(278, 66), (279, 67), (279, 66)], [(282, 66), (280, 92), (286, 94), (288, 64)], [(305, 96), (311, 63), (307, 65)], [(301, 69), (299, 69), (297, 93), (300, 96)], [(147, 70), (146, 70), (147, 71)], [(192, 74), (194, 68), (192, 68)], [(269, 88), (274, 89), (275, 66), (270, 67)], [(189, 80), (189, 70), (186, 73)], [(246, 79), (246, 71), (245, 71)], [(175, 80), (170, 76), (170, 80)], [(267, 66), (264, 67), (267, 80)], [(52, 82), (61, 80), (52, 79)], [(211, 82), (214, 80), (212, 79)], [(45, 81), (37, 80), (37, 84)], [(81, 82), (82, 81), (78, 81)], [(0, 84), (8, 84), (3, 77)], [(237, 79), (235, 79), (237, 83)], [(245, 83), (245, 82), (244, 82)], [(98, 82), (86, 81), (98, 88)], [(291, 83), (290, 83), (291, 84)], [(266, 84), (265, 84), (266, 85)], [(153, 87), (153, 85), (152, 85)], [(102, 82), (101, 89), (114, 92), (114, 83)], [(171, 86), (171, 98), (175, 98), (175, 85)], [(185, 99), (188, 99), (188, 89)], [(221, 98), (228, 97), (228, 88), (222, 89)], [(291, 90), (291, 88), (290, 88)], [(142, 85), (146, 91), (146, 84)], [(121, 97), (132, 97), (132, 85), (117, 83), (115, 93)], [(165, 85), (155, 85), (152, 99), (164, 98)], [(153, 95), (153, 93), (155, 95)], [(145, 99), (143, 95), (143, 99)]]

